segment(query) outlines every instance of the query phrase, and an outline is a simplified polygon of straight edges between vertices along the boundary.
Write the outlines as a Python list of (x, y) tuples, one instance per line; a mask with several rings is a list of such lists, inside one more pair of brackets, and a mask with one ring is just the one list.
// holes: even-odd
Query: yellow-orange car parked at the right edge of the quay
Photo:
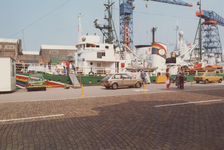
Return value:
[(200, 81), (204, 83), (213, 81), (222, 83), (223, 77), (217, 76), (214, 72), (199, 72), (198, 75), (194, 76), (194, 80), (196, 81), (196, 83), (199, 83)]

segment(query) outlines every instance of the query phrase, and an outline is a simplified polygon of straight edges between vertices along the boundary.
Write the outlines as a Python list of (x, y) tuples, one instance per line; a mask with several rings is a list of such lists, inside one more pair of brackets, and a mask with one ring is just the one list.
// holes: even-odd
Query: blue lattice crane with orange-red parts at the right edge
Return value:
[(201, 13), (197, 11), (196, 16), (200, 17), (200, 15), (205, 20), (201, 24), (202, 44), (205, 53), (214, 53), (216, 56), (222, 56), (218, 25), (224, 26), (224, 19), (214, 11), (201, 10)]

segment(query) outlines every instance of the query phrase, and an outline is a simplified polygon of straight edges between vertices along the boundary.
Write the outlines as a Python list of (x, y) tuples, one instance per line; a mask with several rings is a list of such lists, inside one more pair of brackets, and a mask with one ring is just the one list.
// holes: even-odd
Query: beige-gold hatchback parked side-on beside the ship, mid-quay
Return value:
[(107, 89), (110, 89), (111, 87), (113, 89), (117, 89), (121, 86), (129, 86), (129, 87), (136, 87), (140, 88), (142, 86), (142, 79), (132, 79), (128, 74), (126, 73), (115, 73), (115, 74), (109, 74), (105, 78), (102, 79), (101, 85), (105, 86)]

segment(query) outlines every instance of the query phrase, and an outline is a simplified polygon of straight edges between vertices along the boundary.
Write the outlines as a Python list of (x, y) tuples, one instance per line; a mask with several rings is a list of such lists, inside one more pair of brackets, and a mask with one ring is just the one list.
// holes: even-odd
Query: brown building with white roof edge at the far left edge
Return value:
[(18, 62), (18, 55), (22, 54), (21, 39), (0, 38), (0, 56), (11, 57)]

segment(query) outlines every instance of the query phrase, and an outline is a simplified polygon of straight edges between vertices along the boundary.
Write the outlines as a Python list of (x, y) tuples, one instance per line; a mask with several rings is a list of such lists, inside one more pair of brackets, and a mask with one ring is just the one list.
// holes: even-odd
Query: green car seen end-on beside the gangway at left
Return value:
[(29, 92), (31, 89), (43, 89), (46, 91), (46, 83), (42, 74), (30, 74), (26, 83), (26, 89)]

